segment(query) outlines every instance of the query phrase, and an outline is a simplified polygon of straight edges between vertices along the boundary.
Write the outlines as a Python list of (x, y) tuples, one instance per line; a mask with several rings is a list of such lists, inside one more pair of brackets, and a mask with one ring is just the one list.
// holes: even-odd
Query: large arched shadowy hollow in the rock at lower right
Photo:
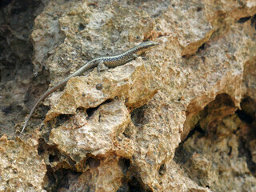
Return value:
[[(176, 149), (174, 162), (182, 166), (189, 177), (197, 182), (199, 186), (207, 188), (216, 187), (214, 183), (209, 182), (204, 176), (204, 174), (210, 173), (201, 169), (205, 164), (197, 166), (197, 163), (204, 162), (204, 158), (206, 158), (206, 162), (210, 162), (209, 170), (215, 170), (216, 173), (218, 173), (218, 177), (223, 179), (226, 172), (229, 172), (230, 169), (229, 161), (226, 161), (226, 159), (233, 159), (234, 156), (236, 156), (234, 154), (236, 154), (237, 146), (239, 151), (239, 156), (236, 157), (238, 159), (237, 161), (240, 162), (244, 159), (250, 173), (255, 175), (256, 166), (250, 152), (250, 141), (255, 138), (256, 131), (250, 130), (250, 127), (254, 125), (256, 104), (252, 99), (245, 98), (242, 100), (240, 106), (242, 110), (237, 110), (230, 95), (218, 94), (213, 102), (210, 102), (203, 110), (198, 111), (198, 114), (194, 114), (194, 118), (191, 118), (192, 120), (190, 121), (193, 122), (190, 124), (191, 130), (186, 138), (184, 138), (184, 142), (181, 142)], [(234, 111), (236, 111), (236, 114), (234, 114)], [(244, 121), (241, 122), (238, 117), (244, 119)], [(250, 122), (250, 124), (247, 124), (248, 122)], [(211, 125), (214, 125), (214, 131), (209, 131)], [(239, 126), (241, 127), (239, 128)], [(234, 141), (238, 143), (231, 145), (231, 138), (236, 138)], [(219, 143), (223, 141), (226, 142), (225, 145), (222, 145), (225, 146), (225, 152), (223, 152), (222, 147), (218, 147)], [(214, 146), (214, 148), (211, 148), (212, 146)], [(209, 150), (206, 149), (206, 147), (209, 147)], [(209, 157), (207, 157), (207, 155), (209, 155)], [(214, 166), (215, 163), (218, 163), (217, 161), (222, 161), (221, 163), (223, 163), (223, 165), (226, 163), (225, 168), (220, 170), (216, 169)], [(242, 174), (239, 175), (239, 177), (240, 176), (244, 177)], [(236, 177), (236, 175), (230, 175), (230, 179), (234, 179), (234, 177)], [(230, 184), (232, 182), (227, 183)], [(234, 188), (236, 186), (230, 187)]]

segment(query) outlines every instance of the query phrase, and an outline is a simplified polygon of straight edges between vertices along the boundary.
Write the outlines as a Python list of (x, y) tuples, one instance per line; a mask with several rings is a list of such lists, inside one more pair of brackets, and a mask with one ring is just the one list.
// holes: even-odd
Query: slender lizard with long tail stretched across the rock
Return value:
[(98, 71), (106, 70), (108, 67), (116, 67), (116, 66), (122, 66), (126, 64), (127, 62), (130, 62), (134, 60), (135, 58), (138, 58), (139, 55), (144, 53), (146, 50), (150, 50), (153, 46), (158, 45), (158, 42), (153, 41), (147, 41), (142, 42), (138, 46), (134, 46), (134, 48), (131, 48), (130, 50), (126, 50), (122, 54), (117, 54), (114, 56), (106, 56), (101, 58), (94, 58), (90, 60), (89, 62), (86, 62), (84, 66), (76, 70), (73, 74), (70, 74), (67, 78), (62, 80), (61, 82), (58, 82), (57, 85), (50, 88), (50, 90), (47, 90), (42, 96), (38, 99), (38, 101), (34, 104), (33, 108), (30, 110), (29, 116), (26, 118), (24, 125), (22, 126), (22, 132), (25, 130), (27, 123), (29, 122), (32, 114), (34, 114), (34, 110), (38, 107), (39, 102), (42, 102), (45, 98), (47, 98), (50, 94), (52, 94), (55, 90), (58, 90), (62, 86), (66, 85), (66, 82), (70, 80), (70, 78), (73, 78), (75, 76), (81, 75), (86, 70), (90, 70), (97, 66)]

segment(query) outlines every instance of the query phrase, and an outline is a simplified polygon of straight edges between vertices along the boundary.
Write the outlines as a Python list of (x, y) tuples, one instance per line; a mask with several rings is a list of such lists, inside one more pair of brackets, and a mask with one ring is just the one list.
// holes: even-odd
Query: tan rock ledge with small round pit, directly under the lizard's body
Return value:
[[(144, 66), (141, 59), (136, 62), (102, 72), (101, 75), (95, 69), (87, 77), (70, 79), (60, 98), (52, 99), (57, 104), (46, 114), (46, 121), (60, 114), (75, 114), (79, 107), (97, 107), (114, 98), (126, 103), (130, 109), (144, 105), (158, 89), (150, 68)], [(98, 84), (102, 85), (102, 90), (97, 90)]]

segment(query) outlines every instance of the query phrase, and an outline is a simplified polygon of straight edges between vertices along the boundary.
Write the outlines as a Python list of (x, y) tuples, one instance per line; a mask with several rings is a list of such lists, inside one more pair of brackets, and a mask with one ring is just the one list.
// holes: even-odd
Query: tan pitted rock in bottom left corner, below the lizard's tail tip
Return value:
[(29, 141), (0, 138), (0, 191), (40, 191), (46, 164), (38, 155), (38, 133)]

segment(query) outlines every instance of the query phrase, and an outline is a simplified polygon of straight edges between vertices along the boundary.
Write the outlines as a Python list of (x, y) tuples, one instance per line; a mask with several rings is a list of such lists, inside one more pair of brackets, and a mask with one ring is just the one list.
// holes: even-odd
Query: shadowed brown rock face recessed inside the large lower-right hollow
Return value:
[[(215, 116), (210, 117), (214, 121)], [(181, 144), (174, 159), (199, 186), (207, 186), (214, 191), (254, 191), (254, 166), (246, 163), (251, 160), (242, 143), (242, 137), (246, 138), (247, 134), (242, 131), (243, 123), (235, 114), (226, 117), (223, 122), (216, 122), (210, 128), (202, 127), (206, 131), (197, 128)], [(230, 131), (229, 125), (234, 123), (237, 126)]]

